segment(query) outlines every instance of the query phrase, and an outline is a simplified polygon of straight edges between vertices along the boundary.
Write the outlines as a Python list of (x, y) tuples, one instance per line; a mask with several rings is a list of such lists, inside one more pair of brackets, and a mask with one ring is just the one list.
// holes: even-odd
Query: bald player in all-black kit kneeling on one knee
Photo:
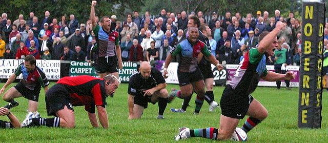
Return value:
[(129, 119), (141, 118), (148, 103), (158, 101), (158, 119), (163, 119), (163, 113), (168, 104), (169, 93), (165, 89), (166, 82), (156, 68), (148, 62), (141, 62), (139, 72), (131, 75), (128, 88)]

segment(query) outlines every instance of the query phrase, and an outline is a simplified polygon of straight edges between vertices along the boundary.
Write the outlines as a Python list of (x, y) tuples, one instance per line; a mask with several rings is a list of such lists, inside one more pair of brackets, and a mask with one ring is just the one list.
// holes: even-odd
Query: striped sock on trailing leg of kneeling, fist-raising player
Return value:
[(204, 129), (194, 129), (190, 130), (191, 137), (203, 137), (208, 139), (216, 140), (219, 130), (216, 128), (204, 128)]

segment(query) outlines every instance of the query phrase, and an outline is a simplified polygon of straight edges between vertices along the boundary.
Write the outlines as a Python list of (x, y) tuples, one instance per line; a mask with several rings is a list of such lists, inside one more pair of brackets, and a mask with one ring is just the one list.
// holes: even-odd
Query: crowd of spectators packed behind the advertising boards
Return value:
[[(243, 55), (256, 47), (259, 34), (272, 31), (277, 21), (283, 22), (288, 27), (278, 34), (281, 48), (276, 50), (284, 50), (277, 52), (279, 55), (275, 57), (269, 56), (267, 64), (283, 62), (285, 65), (299, 65), (301, 22), (294, 17), (293, 12), (289, 13), (289, 17), (283, 17), (279, 10), (272, 17), (267, 11), (263, 15), (257, 11), (256, 16), (226, 12), (221, 19), (213, 12), (208, 21), (202, 11), (188, 15), (186, 11), (175, 14), (162, 9), (155, 18), (148, 11), (142, 17), (138, 11), (134, 11), (122, 22), (117, 21), (116, 15), (111, 15), (111, 29), (120, 34), (122, 60), (165, 60), (168, 52), (188, 36), (188, 17), (191, 15), (198, 16), (201, 25), (210, 27), (212, 34), (208, 38), (211, 53), (223, 64), (239, 64)], [(2, 13), (0, 18), (0, 58), (21, 59), (32, 54), (36, 59), (96, 60), (96, 54), (90, 55), (97, 43), (90, 19), (86, 23), (79, 23), (73, 14), (69, 19), (65, 16), (55, 18), (51, 17), (49, 11), (45, 11), (45, 15), (40, 18), (33, 12), (29, 13), (28, 18), (19, 14), (13, 23), (7, 17), (6, 13)], [(97, 16), (96, 21), (101, 26)], [(328, 44), (327, 26), (328, 23), (324, 29), (324, 46)], [(281, 53), (285, 55), (281, 56)]]

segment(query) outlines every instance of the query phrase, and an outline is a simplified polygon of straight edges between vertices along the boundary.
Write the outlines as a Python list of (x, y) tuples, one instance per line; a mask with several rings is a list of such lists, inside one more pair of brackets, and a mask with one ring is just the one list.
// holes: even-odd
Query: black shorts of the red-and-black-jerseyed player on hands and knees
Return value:
[(48, 116), (55, 116), (55, 113), (66, 106), (68, 109), (73, 110), (70, 103), (69, 92), (64, 85), (56, 84), (52, 86), (46, 93), (46, 105)]

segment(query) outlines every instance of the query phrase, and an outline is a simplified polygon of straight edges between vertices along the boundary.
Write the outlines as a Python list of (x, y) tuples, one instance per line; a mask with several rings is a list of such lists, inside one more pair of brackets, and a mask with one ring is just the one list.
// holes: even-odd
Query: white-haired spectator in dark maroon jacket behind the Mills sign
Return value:
[(142, 62), (144, 61), (144, 55), (142, 52), (142, 47), (138, 43), (137, 39), (133, 39), (133, 45), (131, 46), (130, 49), (130, 57), (129, 61), (130, 62)]

